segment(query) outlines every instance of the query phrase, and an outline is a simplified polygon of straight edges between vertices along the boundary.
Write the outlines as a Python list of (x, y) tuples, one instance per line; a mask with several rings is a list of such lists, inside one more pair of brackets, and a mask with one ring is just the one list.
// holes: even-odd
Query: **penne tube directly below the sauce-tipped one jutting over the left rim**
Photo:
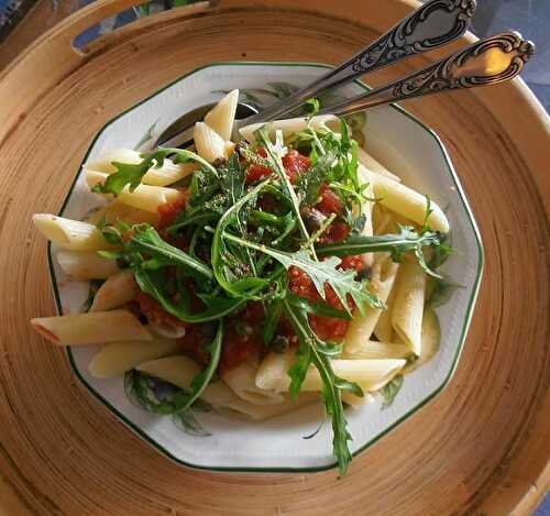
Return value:
[(182, 351), (175, 340), (155, 337), (145, 342), (118, 342), (107, 344), (91, 359), (88, 365), (96, 378), (111, 378), (124, 374), (136, 365)]

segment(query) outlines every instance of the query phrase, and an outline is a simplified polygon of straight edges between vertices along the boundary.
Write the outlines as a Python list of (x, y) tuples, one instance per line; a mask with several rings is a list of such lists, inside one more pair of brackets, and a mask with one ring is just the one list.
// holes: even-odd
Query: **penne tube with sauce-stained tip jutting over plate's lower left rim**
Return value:
[(32, 319), (31, 325), (57, 345), (106, 344), (152, 339), (147, 329), (128, 310), (40, 317)]

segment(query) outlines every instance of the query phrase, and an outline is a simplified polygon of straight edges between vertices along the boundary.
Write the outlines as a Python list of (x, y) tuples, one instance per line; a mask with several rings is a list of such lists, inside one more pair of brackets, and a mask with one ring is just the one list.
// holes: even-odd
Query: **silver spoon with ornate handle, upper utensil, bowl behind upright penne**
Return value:
[[(341, 86), (405, 57), (447, 45), (465, 32), (475, 7), (475, 0), (430, 0), (345, 63), (261, 113), (252, 106), (239, 102), (233, 131), (250, 123), (276, 120), (320, 91)], [(180, 146), (186, 146), (191, 143), (195, 122), (202, 120), (213, 106), (200, 106), (179, 117), (163, 131), (155, 146), (174, 146), (178, 142)]]

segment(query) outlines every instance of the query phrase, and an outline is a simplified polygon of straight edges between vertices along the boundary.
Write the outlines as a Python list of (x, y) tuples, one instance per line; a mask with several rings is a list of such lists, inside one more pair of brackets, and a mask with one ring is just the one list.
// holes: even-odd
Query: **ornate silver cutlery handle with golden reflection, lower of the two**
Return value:
[(534, 53), (534, 43), (517, 32), (505, 32), (480, 40), (405, 78), (326, 108), (319, 114), (351, 114), (413, 97), (503, 83), (516, 77)]

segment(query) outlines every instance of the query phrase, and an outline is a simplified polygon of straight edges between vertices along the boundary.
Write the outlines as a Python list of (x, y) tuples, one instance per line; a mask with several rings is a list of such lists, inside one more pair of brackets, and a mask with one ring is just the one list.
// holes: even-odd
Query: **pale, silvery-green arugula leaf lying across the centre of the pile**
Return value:
[(348, 296), (355, 301), (361, 314), (364, 314), (365, 303), (373, 308), (385, 308), (382, 303), (373, 293), (366, 287), (366, 282), (356, 282), (354, 271), (340, 271), (337, 268), (341, 260), (337, 256), (330, 256), (322, 262), (314, 261), (305, 250), (296, 251), (295, 253), (287, 253), (278, 251), (266, 245), (256, 244), (248, 240), (240, 239), (230, 233), (223, 233), (223, 238), (233, 241), (245, 248), (254, 249), (264, 254), (267, 254), (277, 262), (282, 263), (287, 270), (292, 266), (301, 268), (314, 282), (317, 292), (324, 299), (324, 284), (332, 287), (336, 295), (340, 299), (342, 306), (351, 312), (352, 309), (348, 301)]

